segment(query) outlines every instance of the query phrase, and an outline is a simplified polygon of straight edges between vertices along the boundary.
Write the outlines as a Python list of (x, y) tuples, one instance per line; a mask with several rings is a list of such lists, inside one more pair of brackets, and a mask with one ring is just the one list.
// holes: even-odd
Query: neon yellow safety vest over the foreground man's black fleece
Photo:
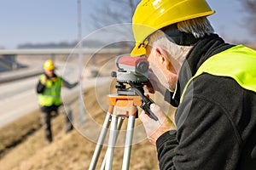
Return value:
[(256, 92), (256, 51), (237, 45), (207, 59), (196, 71), (195, 76), (189, 79), (180, 103), (183, 101), (183, 95), (189, 83), (203, 73), (218, 77), (231, 77), (241, 88)]

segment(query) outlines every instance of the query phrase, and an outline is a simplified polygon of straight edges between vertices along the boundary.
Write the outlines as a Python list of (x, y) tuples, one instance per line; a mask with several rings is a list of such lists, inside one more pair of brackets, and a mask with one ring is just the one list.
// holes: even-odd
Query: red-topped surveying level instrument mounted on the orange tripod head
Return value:
[[(119, 56), (116, 59), (118, 71), (111, 73), (112, 77), (116, 77), (117, 92), (119, 95), (138, 95), (142, 98), (143, 105), (140, 107), (155, 121), (157, 116), (150, 111), (150, 105), (154, 103), (152, 99), (145, 96), (143, 86), (148, 80), (148, 60), (144, 57), (132, 58), (131, 56)], [(125, 84), (130, 85), (126, 88)]]

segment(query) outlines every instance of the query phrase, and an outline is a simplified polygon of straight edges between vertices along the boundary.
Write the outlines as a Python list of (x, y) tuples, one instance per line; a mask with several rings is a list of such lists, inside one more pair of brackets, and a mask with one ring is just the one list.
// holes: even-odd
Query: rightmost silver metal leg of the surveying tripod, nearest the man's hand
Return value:
[(134, 132), (134, 122), (135, 122), (135, 116), (129, 116), (127, 131), (126, 131), (126, 138), (125, 138), (125, 152), (124, 152), (122, 170), (129, 169), (129, 163), (131, 158), (131, 144), (132, 144), (133, 132)]

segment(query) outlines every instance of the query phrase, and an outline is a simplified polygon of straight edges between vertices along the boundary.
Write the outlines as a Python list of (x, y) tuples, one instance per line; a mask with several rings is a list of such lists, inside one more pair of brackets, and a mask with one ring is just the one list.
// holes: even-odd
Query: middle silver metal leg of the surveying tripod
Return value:
[(115, 144), (115, 140), (117, 138), (117, 133), (118, 133), (117, 122), (118, 122), (118, 117), (112, 115), (112, 122), (111, 122), (109, 139), (108, 139), (108, 153), (107, 153), (108, 156), (106, 160), (106, 168), (108, 170), (111, 170), (112, 168), (114, 144)]

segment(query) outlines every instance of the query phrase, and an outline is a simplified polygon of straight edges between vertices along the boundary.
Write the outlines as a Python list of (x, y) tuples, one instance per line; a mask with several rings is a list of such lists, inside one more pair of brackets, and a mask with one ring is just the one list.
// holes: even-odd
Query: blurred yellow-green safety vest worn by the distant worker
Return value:
[[(45, 75), (40, 76), (43, 82)], [(45, 83), (44, 93), (38, 96), (39, 105), (61, 105), (61, 77), (48, 79)]]

